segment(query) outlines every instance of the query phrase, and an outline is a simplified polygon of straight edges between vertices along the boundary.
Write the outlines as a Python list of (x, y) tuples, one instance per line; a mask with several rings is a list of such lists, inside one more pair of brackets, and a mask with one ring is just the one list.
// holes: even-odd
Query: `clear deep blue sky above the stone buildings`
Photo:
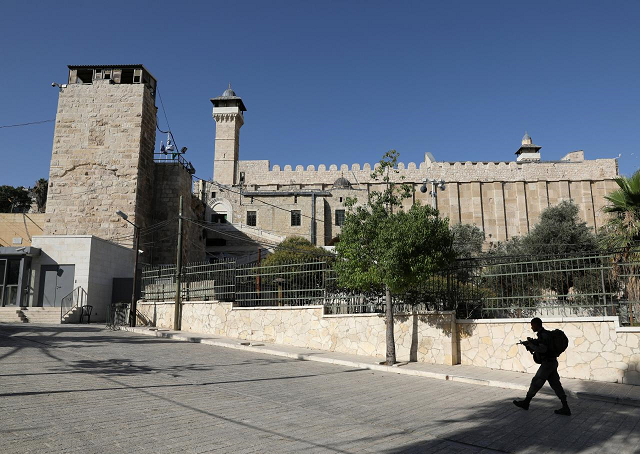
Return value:
[[(512, 160), (526, 130), (543, 159), (583, 149), (640, 167), (638, 2), (2, 5), (0, 125), (55, 118), (68, 64), (143, 63), (200, 177), (209, 98), (229, 82), (248, 109), (241, 159)], [(0, 184), (48, 177), (52, 139), (53, 123), (0, 129)]]

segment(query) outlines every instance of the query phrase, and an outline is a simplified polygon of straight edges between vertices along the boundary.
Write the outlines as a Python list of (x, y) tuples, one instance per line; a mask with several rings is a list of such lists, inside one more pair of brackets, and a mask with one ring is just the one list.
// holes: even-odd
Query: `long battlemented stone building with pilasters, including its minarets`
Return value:
[[(268, 160), (240, 160), (245, 105), (231, 88), (211, 101), (213, 180), (195, 185), (206, 202), (207, 221), (216, 224), (207, 239), (210, 255), (269, 248), (289, 235), (331, 245), (340, 233), (346, 198), (366, 201), (369, 192), (383, 189), (371, 177), (371, 164), (281, 168)], [(487, 245), (528, 233), (545, 208), (562, 200), (574, 201), (597, 232), (605, 222), (604, 196), (617, 187), (616, 159), (587, 160), (582, 151), (573, 151), (559, 161), (543, 161), (540, 148), (525, 134), (515, 161), (446, 162), (426, 153), (423, 162), (399, 163), (392, 180), (413, 188), (405, 206), (430, 204), (452, 224), (474, 224), (485, 232)]]

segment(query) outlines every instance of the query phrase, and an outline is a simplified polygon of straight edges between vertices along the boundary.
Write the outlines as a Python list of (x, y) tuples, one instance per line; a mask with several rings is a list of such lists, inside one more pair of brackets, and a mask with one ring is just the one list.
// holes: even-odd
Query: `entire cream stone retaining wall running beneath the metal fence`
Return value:
[[(173, 303), (140, 302), (153, 325), (173, 327)], [(640, 385), (640, 328), (617, 317), (548, 318), (569, 348), (561, 377)], [(233, 308), (232, 303), (183, 303), (182, 330), (256, 342), (385, 357), (382, 314), (323, 315), (322, 306)], [(535, 337), (529, 319), (455, 320), (452, 312), (395, 318), (398, 361), (463, 364), (533, 373), (537, 365), (517, 342)]]

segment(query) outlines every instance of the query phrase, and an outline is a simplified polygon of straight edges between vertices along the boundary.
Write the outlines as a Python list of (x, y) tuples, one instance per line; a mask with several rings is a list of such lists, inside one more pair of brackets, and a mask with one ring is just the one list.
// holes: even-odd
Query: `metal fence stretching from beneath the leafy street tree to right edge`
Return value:
[[(613, 254), (458, 260), (392, 298), (394, 313), (454, 310), (459, 318), (586, 317), (640, 321), (640, 263)], [(329, 292), (325, 313), (385, 311), (381, 292)]]

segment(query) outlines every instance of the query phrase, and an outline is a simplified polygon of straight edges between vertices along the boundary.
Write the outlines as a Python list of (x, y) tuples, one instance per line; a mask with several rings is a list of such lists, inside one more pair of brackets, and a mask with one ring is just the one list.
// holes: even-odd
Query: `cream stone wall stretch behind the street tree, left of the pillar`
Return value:
[[(138, 303), (155, 326), (173, 328), (173, 303)], [(455, 315), (426, 313), (395, 320), (398, 361), (456, 364)], [(322, 306), (233, 308), (232, 303), (185, 302), (182, 330), (384, 358), (380, 314), (323, 315)]]

